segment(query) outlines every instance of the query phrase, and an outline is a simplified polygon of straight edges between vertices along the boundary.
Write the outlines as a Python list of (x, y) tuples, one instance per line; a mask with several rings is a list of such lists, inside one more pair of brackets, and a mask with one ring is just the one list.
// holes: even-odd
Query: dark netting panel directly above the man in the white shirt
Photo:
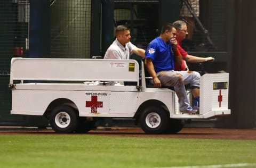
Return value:
[(124, 24), (130, 28), (131, 42), (137, 47), (146, 48), (158, 36), (157, 1), (115, 1), (114, 26)]

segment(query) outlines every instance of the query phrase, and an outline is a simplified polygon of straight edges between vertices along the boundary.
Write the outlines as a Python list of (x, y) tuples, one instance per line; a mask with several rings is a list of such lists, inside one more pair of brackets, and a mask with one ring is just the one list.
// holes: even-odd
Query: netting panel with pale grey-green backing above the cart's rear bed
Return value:
[(91, 2), (51, 3), (51, 57), (90, 57)]

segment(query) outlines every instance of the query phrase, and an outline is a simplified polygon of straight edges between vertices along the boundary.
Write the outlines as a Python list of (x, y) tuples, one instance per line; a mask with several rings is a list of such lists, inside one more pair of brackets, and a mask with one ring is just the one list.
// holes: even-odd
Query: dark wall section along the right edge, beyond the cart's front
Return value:
[(254, 128), (255, 108), (255, 37), (256, 1), (235, 2), (233, 54), (230, 61), (229, 124), (234, 128)]

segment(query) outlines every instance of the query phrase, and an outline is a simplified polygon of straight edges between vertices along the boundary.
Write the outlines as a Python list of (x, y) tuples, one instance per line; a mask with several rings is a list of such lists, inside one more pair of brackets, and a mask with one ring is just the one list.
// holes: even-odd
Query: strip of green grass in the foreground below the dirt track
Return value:
[[(256, 141), (1, 135), (0, 167), (171, 167), (256, 163)], [(255, 165), (254, 165), (255, 167)]]

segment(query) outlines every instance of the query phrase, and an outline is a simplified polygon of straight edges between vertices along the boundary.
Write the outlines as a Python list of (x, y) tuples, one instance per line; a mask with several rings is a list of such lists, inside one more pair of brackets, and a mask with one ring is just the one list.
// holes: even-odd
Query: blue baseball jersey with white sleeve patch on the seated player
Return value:
[(171, 48), (172, 44), (165, 43), (160, 37), (155, 38), (148, 45), (145, 57), (152, 59), (156, 73), (174, 70), (174, 55)]

